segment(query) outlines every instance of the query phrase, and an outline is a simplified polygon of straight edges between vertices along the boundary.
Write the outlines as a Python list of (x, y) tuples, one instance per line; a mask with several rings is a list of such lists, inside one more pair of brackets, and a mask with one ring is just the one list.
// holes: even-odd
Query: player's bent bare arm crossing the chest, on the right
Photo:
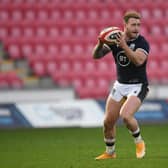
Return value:
[(118, 35), (117, 40), (118, 40), (118, 45), (121, 48), (123, 48), (123, 50), (125, 51), (125, 55), (136, 66), (140, 66), (145, 62), (145, 60), (147, 59), (147, 55), (148, 55), (148, 53), (145, 52), (145, 50), (143, 50), (141, 48), (136, 49), (136, 51), (131, 50), (128, 47), (128, 45), (127, 45), (124, 37), (122, 37), (122, 35)]

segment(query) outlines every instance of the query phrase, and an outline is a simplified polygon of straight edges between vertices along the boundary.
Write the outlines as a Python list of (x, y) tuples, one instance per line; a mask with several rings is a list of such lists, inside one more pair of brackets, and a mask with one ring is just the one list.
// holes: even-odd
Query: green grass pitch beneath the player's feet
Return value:
[(131, 135), (117, 127), (117, 159), (95, 161), (105, 147), (102, 128), (0, 130), (1, 168), (164, 168), (168, 165), (168, 124), (142, 125), (147, 154), (135, 158)]

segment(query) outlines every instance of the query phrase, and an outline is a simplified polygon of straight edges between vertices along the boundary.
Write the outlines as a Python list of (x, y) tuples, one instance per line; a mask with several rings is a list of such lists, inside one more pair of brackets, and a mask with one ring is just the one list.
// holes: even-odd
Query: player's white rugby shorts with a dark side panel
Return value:
[(123, 97), (127, 98), (129, 96), (137, 96), (142, 102), (146, 97), (148, 91), (148, 85), (146, 84), (123, 84), (115, 81), (110, 92), (110, 96), (117, 102), (119, 102)]

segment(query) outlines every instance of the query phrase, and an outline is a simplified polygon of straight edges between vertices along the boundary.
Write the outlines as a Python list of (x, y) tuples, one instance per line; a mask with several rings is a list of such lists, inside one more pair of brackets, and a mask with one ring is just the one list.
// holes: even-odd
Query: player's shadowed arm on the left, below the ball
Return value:
[(93, 58), (99, 59), (104, 57), (107, 53), (111, 51), (110, 47), (108, 45), (104, 44), (100, 40), (98, 40), (98, 43), (93, 49)]

